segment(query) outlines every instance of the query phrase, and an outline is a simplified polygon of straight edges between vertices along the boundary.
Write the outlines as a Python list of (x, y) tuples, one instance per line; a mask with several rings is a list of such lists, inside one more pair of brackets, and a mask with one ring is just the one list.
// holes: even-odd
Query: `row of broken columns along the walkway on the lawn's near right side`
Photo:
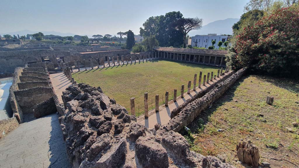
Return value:
[[(229, 68), (226, 67), (225, 68), (225, 73), (227, 73), (229, 71)], [(209, 81), (213, 81), (216, 80), (216, 77), (219, 78), (220, 76), (223, 76), (225, 73), (223, 73), (223, 68), (218, 69), (217, 70), (217, 75), (214, 75), (214, 72), (208, 72), (207, 75), (203, 76), (203, 82), (202, 85), (205, 85), (206, 83), (209, 83)], [(210, 76), (211, 75), (211, 76)], [(198, 80), (198, 88), (200, 88), (201, 86), (201, 80), (202, 80), (202, 71), (199, 72), (199, 80)], [(196, 90), (196, 82), (197, 82), (197, 74), (194, 74), (194, 80), (193, 80), (193, 91)], [(190, 94), (190, 90), (191, 90), (191, 81), (188, 82), (188, 90), (187, 90), (187, 94)], [(165, 106), (168, 106), (168, 97), (169, 97), (169, 92), (166, 91), (165, 92)], [(177, 97), (177, 90), (174, 89), (173, 90), (173, 101), (176, 102), (176, 97)], [(181, 98), (184, 97), (184, 85), (181, 85)], [(130, 102), (131, 102), (131, 114), (135, 115), (135, 97), (131, 97), (130, 98)], [(156, 94), (155, 96), (155, 111), (159, 112), (159, 95)], [(144, 117), (149, 117), (148, 114), (148, 93), (145, 92), (144, 93)]]

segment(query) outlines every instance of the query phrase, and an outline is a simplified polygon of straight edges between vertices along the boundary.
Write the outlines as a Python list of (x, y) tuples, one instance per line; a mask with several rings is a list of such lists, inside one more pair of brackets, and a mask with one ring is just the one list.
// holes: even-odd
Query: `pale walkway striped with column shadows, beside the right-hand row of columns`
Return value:
[[(225, 75), (227, 75), (227, 74), (228, 73), (225, 73)], [(202, 75), (202, 77), (203, 77), (203, 75)], [(171, 111), (173, 111), (173, 109), (175, 109), (176, 107), (183, 104), (186, 100), (193, 97), (199, 91), (202, 91), (202, 90), (210, 87), (210, 84), (217, 82), (219, 79), (223, 78), (224, 76), (219, 76), (219, 77), (220, 78), (216, 77), (216, 80), (213, 79), (212, 82), (209, 81), (209, 83), (206, 83), (205, 86), (202, 85), (202, 83), (201, 83), (200, 88), (198, 88), (198, 81), (197, 81), (195, 91), (193, 91), (193, 81), (192, 81), (190, 94), (187, 94), (187, 92), (186, 92), (186, 93), (184, 93), (184, 97), (181, 98), (181, 91), (177, 91), (177, 95), (179, 95), (179, 97), (176, 98), (176, 102), (173, 102), (173, 100), (171, 100), (168, 102), (168, 107), (165, 107), (165, 105), (159, 106), (159, 112), (155, 112), (155, 109), (150, 110), (148, 118), (145, 118), (144, 114), (143, 114), (137, 118), (137, 122), (144, 124), (147, 128), (150, 128), (150, 129), (155, 128), (155, 124), (157, 124), (157, 123), (159, 123), (161, 125), (167, 124), (171, 119), (170, 115), (171, 115)], [(197, 77), (197, 80), (198, 79), (199, 78)], [(185, 85), (185, 88), (186, 87), (187, 87), (187, 85)]]

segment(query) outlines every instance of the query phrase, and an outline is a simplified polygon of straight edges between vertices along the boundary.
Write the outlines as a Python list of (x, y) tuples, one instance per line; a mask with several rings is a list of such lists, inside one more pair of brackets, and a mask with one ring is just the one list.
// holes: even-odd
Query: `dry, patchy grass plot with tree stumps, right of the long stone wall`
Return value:
[[(236, 145), (240, 139), (251, 140), (258, 146), (260, 156), (284, 158), (299, 166), (299, 128), (292, 126), (299, 122), (298, 92), (298, 81), (243, 77), (188, 126), (192, 136), (185, 137), (191, 150), (203, 155), (223, 155), (234, 166), (246, 167), (236, 164)], [(267, 95), (274, 97), (272, 106), (266, 104)], [(251, 117), (254, 118), (248, 120)], [(225, 129), (231, 126), (234, 127)], [(261, 157), (260, 162), (269, 162), (271, 167), (297, 167), (268, 158)]]

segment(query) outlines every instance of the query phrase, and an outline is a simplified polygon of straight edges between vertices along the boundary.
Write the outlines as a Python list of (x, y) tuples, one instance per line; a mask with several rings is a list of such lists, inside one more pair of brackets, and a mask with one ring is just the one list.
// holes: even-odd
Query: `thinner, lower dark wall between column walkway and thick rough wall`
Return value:
[(234, 74), (234, 71), (227, 74), (225, 77), (221, 78), (219, 81), (213, 83), (210, 85), (210, 87), (206, 88), (205, 90), (199, 91), (198, 93), (196, 93), (193, 97), (191, 97), (191, 99), (186, 100), (183, 104), (181, 104), (180, 106), (176, 107), (175, 109), (173, 109), (173, 111), (170, 114), (170, 118), (175, 117), (182, 109), (184, 109), (184, 107), (186, 107), (189, 103), (193, 102), (194, 100), (204, 96), (206, 93), (208, 93), (209, 91), (211, 91), (218, 83), (226, 80), (228, 77), (230, 77), (232, 74)]

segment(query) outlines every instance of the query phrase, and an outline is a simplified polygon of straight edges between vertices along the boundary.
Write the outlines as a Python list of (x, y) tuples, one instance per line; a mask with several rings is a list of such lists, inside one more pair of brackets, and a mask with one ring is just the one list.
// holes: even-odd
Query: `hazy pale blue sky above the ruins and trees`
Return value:
[(248, 0), (0, 0), (0, 33), (19, 30), (79, 35), (111, 34), (139, 28), (151, 16), (180, 11), (203, 25), (239, 18)]

